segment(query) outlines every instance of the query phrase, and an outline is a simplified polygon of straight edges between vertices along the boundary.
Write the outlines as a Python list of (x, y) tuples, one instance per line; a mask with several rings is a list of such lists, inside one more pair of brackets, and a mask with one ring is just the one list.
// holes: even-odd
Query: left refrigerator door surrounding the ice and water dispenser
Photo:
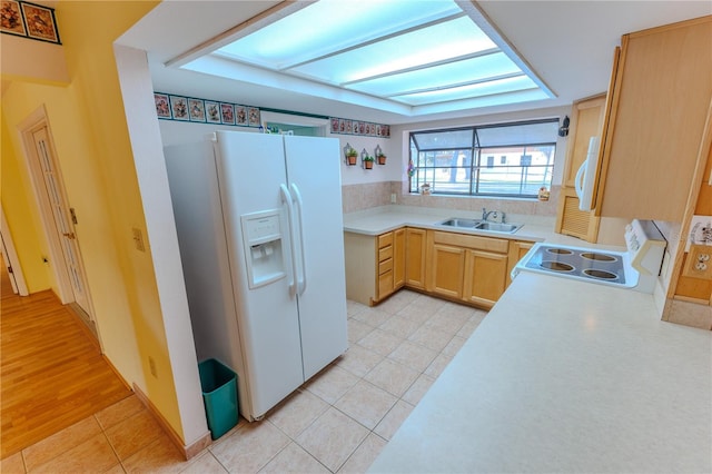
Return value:
[[(284, 145), (280, 136), (234, 131), (217, 132), (217, 167), (229, 253), (240, 343), (253, 411), (256, 418), (304, 383), (297, 299), (289, 290), (290, 275), (249, 288), (243, 216), (281, 209), (280, 225), (288, 228), (280, 199), (285, 185)], [(289, 233), (281, 233), (281, 253), (289, 268)]]

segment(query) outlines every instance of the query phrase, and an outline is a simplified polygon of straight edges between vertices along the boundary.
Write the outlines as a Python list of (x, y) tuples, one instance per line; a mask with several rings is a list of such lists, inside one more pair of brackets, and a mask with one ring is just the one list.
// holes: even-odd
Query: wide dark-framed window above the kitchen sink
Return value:
[[(551, 187), (558, 119), (411, 134), (411, 192), (537, 196)], [(500, 162), (495, 165), (495, 156)]]

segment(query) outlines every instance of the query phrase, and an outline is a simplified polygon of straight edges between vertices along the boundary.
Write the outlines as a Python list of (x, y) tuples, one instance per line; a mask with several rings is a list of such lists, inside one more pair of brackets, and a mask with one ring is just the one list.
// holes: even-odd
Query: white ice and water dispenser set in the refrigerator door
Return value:
[(285, 277), (279, 210), (246, 214), (240, 218), (249, 288), (259, 288)]

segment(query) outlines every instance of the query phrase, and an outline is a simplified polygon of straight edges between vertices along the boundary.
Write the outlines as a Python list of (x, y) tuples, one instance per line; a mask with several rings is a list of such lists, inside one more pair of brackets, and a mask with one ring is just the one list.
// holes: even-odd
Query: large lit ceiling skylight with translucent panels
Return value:
[(412, 115), (553, 97), (471, 1), (320, 0), (209, 58), (185, 67), (257, 67), (299, 79), (294, 87), (308, 85), (306, 93), (320, 95), (316, 83), (329, 89), (322, 97), (336, 88), (353, 92), (352, 102), (375, 98)]

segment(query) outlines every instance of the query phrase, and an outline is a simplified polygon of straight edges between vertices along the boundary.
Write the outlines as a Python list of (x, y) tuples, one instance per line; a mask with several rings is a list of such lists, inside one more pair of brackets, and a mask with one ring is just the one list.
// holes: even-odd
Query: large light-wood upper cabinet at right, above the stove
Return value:
[(623, 36), (602, 130), (596, 215), (681, 221), (698, 161), (706, 159), (711, 98), (712, 16)]

